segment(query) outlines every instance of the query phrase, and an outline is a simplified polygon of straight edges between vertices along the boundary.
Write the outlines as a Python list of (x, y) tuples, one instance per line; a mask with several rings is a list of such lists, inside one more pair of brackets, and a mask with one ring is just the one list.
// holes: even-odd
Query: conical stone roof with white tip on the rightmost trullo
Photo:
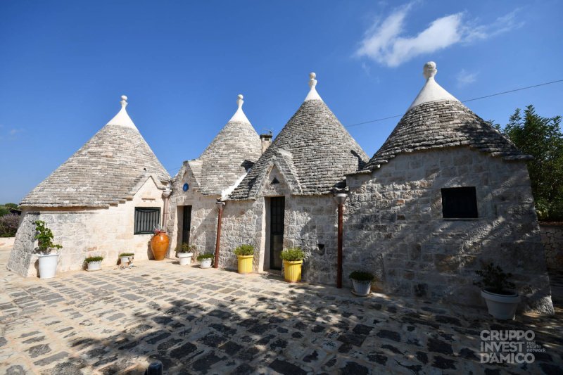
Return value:
[(387, 140), (365, 166), (371, 170), (401, 153), (469, 146), (505, 160), (531, 158), (445, 91), (435, 80), (436, 63), (424, 65), (426, 84)]

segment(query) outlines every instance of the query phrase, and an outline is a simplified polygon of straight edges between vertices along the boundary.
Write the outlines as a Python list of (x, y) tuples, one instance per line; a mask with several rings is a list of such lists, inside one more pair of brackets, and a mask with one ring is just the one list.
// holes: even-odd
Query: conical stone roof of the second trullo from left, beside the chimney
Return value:
[(243, 96), (236, 102), (236, 113), (196, 159), (201, 163), (196, 179), (203, 195), (225, 196), (262, 154), (260, 136), (242, 110)]

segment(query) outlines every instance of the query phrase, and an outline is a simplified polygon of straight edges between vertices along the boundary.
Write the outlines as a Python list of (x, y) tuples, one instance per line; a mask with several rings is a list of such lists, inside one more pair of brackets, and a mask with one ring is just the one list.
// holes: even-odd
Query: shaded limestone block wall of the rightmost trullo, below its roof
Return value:
[[(469, 148), (423, 151), (348, 176), (348, 186), (345, 275), (368, 269), (386, 293), (481, 305), (474, 271), (492, 261), (514, 274), (524, 310), (553, 312), (525, 163)], [(476, 186), (478, 219), (443, 219), (440, 189), (456, 186)]]

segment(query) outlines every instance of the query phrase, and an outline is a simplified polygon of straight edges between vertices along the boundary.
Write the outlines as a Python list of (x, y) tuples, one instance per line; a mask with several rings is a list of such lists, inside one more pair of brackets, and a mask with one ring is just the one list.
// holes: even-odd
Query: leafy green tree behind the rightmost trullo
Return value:
[[(563, 134), (561, 116), (542, 117), (533, 106), (517, 108), (503, 129), (528, 162), (533, 198), (539, 220), (563, 221)], [(493, 125), (497, 129), (498, 125)]]

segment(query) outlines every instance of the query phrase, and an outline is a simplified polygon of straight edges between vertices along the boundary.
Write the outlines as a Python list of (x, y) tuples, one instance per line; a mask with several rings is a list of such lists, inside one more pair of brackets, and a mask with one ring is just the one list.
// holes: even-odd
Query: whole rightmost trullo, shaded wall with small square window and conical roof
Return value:
[(523, 155), (435, 80), (384, 145), (348, 175), (346, 274), (376, 273), (391, 295), (480, 305), (474, 271), (514, 275), (521, 307), (552, 313), (550, 283)]

